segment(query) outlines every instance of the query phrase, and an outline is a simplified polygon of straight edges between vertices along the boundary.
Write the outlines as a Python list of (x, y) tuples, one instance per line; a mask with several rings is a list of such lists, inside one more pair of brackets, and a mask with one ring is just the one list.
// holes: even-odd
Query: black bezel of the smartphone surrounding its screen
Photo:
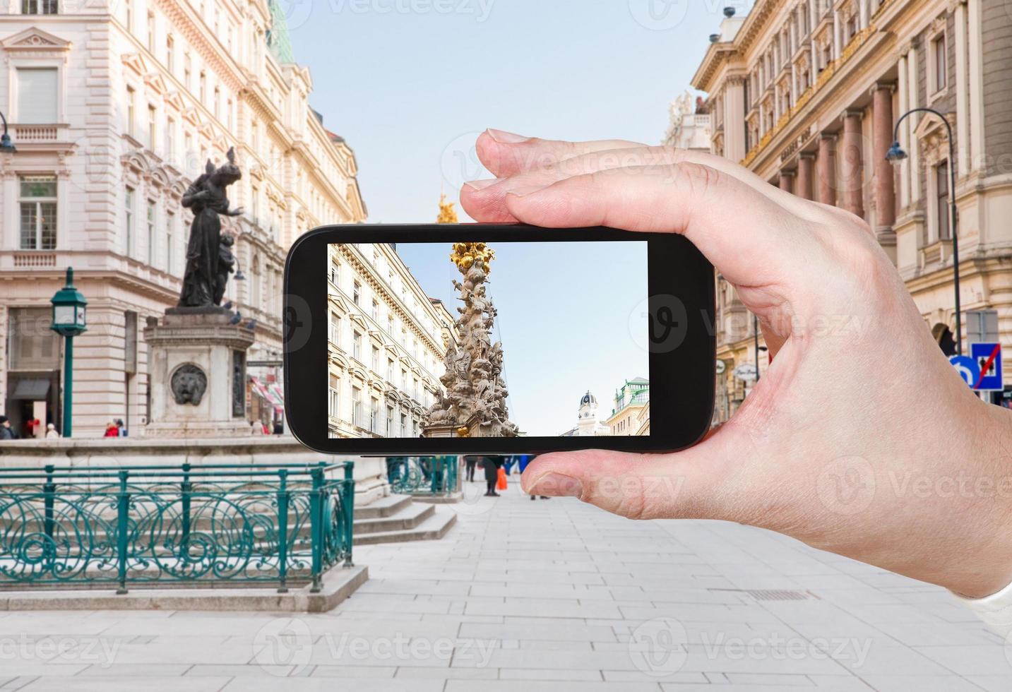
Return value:
[[(330, 439), (327, 415), (327, 246), (332, 243), (604, 242), (648, 243), (649, 310), (678, 296), (688, 324), (677, 348), (650, 354), (651, 431), (643, 437), (340, 438)], [(448, 260), (447, 260), (448, 262)], [(616, 267), (620, 276), (621, 267)], [(640, 270), (629, 267), (630, 271)], [(631, 233), (596, 227), (542, 229), (520, 224), (339, 225), (301, 236), (284, 265), (284, 409), (287, 429), (325, 454), (520, 454), (574, 449), (675, 451), (698, 442), (713, 414), (716, 354), (712, 265), (674, 233)], [(493, 296), (494, 297), (494, 296)], [(509, 358), (509, 344), (504, 344)], [(629, 373), (630, 376), (640, 373)], [(616, 382), (616, 385), (619, 382)], [(581, 393), (573, 398), (574, 411)]]

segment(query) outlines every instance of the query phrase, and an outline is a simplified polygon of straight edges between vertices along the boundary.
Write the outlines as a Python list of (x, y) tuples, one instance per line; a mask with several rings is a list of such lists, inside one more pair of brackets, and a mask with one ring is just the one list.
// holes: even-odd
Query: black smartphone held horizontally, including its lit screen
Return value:
[(317, 229), (284, 270), (288, 429), (328, 454), (690, 446), (712, 419), (714, 283), (673, 233)]

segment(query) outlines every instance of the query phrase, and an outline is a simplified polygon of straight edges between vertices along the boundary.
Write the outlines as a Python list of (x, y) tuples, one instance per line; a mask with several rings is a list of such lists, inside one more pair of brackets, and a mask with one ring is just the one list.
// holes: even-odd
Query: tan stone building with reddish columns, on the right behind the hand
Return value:
[[(954, 352), (948, 214), (955, 169), (960, 301), (997, 313), (1012, 352), (1012, 13), (1004, 0), (757, 0), (725, 12), (692, 86), (708, 94), (710, 150), (793, 194), (864, 219), (939, 345)], [(899, 117), (910, 157), (886, 160)], [(718, 281), (719, 420), (744, 400), (757, 358), (751, 316)], [(967, 334), (963, 313), (962, 333)], [(858, 325), (836, 325), (857, 336)], [(966, 339), (964, 353), (968, 353)], [(1006, 385), (1012, 373), (1005, 373)], [(1006, 387), (1007, 393), (1009, 387)], [(722, 397), (722, 394), (724, 395)], [(1006, 397), (1008, 394), (1006, 394)]]

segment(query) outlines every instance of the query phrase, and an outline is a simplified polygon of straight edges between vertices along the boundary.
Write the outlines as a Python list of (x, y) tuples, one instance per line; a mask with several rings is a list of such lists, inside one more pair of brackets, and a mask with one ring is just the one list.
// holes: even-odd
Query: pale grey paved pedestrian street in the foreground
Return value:
[(440, 541), (356, 548), (370, 580), (330, 613), (0, 614), (0, 689), (1012, 689), (1012, 650), (941, 589), (518, 485)]

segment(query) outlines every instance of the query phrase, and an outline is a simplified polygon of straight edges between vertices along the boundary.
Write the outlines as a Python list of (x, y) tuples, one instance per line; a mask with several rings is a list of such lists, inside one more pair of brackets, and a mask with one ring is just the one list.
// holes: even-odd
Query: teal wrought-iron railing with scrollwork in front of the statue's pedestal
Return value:
[(352, 565), (354, 464), (0, 468), (0, 588), (310, 585)]

